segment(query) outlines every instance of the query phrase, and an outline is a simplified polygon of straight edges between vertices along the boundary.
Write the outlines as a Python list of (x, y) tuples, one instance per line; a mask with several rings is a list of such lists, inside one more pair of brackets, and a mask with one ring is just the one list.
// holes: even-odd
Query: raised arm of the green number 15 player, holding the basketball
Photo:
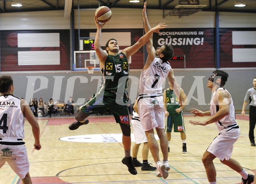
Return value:
[(95, 24), (97, 26), (97, 32), (96, 32), (96, 36), (95, 36), (95, 41), (94, 41), (94, 48), (95, 48), (95, 52), (99, 58), (99, 61), (100, 61), (100, 69), (103, 68), (103, 66), (105, 65), (105, 61), (106, 61), (106, 58), (107, 58), (107, 53), (104, 52), (100, 45), (100, 41), (101, 41), (101, 30), (102, 30), (102, 27), (105, 25), (104, 24), (99, 24), (98, 20), (96, 17), (94, 17), (95, 19)]

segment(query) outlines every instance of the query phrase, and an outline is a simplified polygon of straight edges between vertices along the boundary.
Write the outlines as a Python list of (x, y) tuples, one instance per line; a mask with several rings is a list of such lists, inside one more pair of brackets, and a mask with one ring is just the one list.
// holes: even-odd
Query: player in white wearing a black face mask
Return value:
[(235, 108), (230, 93), (223, 88), (228, 74), (223, 70), (216, 69), (208, 78), (207, 87), (213, 92), (210, 102), (210, 111), (202, 112), (191, 109), (193, 116), (211, 116), (207, 120), (189, 120), (193, 125), (207, 125), (215, 123), (219, 135), (212, 141), (202, 158), (209, 184), (216, 184), (216, 170), (213, 160), (217, 157), (220, 162), (229, 166), (242, 176), (242, 184), (253, 182), (253, 175), (249, 175), (242, 166), (231, 158), (235, 141), (239, 138), (240, 129), (235, 120)]

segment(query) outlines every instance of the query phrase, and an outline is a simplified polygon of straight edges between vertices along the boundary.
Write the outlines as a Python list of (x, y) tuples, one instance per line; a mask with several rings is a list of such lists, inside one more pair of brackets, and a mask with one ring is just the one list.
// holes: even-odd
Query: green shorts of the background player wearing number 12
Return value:
[(183, 113), (170, 113), (169, 116), (166, 117), (165, 121), (165, 131), (172, 132), (172, 127), (174, 127), (174, 132), (184, 132), (184, 119)]

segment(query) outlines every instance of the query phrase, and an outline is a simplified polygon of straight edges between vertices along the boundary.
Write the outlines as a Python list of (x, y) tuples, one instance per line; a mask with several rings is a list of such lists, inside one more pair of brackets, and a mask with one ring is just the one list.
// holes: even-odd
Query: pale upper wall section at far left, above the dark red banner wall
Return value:
[(0, 30), (70, 29), (64, 10), (0, 14)]

